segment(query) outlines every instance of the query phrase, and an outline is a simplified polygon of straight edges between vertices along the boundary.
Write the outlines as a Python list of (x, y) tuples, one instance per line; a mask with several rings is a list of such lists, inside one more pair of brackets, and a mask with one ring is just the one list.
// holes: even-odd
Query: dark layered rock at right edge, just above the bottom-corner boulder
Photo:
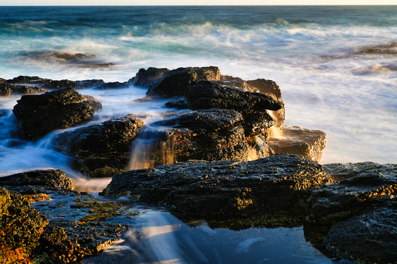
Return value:
[(397, 191), (395, 164), (332, 163), (324, 165), (324, 170), (342, 181), (313, 191), (307, 207), (310, 223), (337, 224), (380, 206)]

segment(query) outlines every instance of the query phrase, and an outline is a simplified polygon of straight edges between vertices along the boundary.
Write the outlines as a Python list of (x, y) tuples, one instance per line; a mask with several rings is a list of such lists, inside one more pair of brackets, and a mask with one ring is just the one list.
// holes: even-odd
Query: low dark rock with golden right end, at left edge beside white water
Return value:
[(40, 185), (56, 189), (72, 189), (72, 181), (62, 170), (35, 170), (0, 177), (0, 186)]

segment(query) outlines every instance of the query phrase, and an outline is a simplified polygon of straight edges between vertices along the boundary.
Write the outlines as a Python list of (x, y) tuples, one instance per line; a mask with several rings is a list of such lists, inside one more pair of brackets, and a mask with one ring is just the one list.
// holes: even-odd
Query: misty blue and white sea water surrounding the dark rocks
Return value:
[[(320, 163), (397, 163), (397, 5), (0, 7), (0, 39), (3, 79), (29, 75), (123, 82), (140, 68), (181, 66), (218, 66), (222, 75), (271, 79), (281, 88), (285, 124), (326, 133)], [(49, 56), (52, 53), (88, 56), (71, 63)], [(146, 92), (133, 86), (79, 92), (103, 103), (96, 122), (109, 116), (166, 111), (162, 101), (131, 103)], [(99, 192), (105, 187), (110, 179), (88, 181), (73, 172), (67, 165), (68, 157), (49, 147), (51, 135), (36, 143), (10, 147), (8, 142), (18, 137), (12, 132), (11, 110), (19, 97), (0, 97), (0, 109), (8, 111), (0, 117), (0, 175), (60, 168), (80, 189)], [(150, 211), (146, 218), (149, 215), (152, 219), (155, 213), (162, 215)], [(170, 217), (154, 219), (167, 222)], [(270, 232), (266, 228), (257, 230)], [(295, 231), (296, 237), (303, 237), (303, 230)], [(263, 252), (266, 244), (255, 238), (240, 244), (244, 234), (220, 237), (214, 245), (234, 247), (234, 260), (246, 258), (246, 252), (253, 257), (249, 254), (252, 245), (261, 246), (258, 252)], [(172, 239), (168, 243), (181, 243)], [(306, 245), (304, 240), (296, 243)], [(214, 245), (194, 249), (197, 256), (193, 261), (186, 254), (172, 258), (231, 263), (227, 252), (208, 249)], [(238, 245), (248, 246), (246, 251), (238, 251)], [(205, 252), (212, 252), (211, 256)], [(307, 249), (302, 258), (296, 252), (280, 254), (296, 256), (287, 259), (295, 263), (328, 261), (315, 252)], [(258, 258), (247, 263), (272, 261), (270, 256)], [(160, 256), (144, 260), (164, 261)]]

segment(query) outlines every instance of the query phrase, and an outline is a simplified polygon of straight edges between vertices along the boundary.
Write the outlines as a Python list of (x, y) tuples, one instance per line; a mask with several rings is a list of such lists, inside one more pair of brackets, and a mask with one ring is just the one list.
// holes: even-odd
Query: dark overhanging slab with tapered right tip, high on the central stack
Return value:
[(186, 101), (191, 109), (233, 109), (235, 111), (279, 110), (283, 103), (266, 94), (242, 92), (221, 87), (211, 81), (199, 81), (188, 86)]

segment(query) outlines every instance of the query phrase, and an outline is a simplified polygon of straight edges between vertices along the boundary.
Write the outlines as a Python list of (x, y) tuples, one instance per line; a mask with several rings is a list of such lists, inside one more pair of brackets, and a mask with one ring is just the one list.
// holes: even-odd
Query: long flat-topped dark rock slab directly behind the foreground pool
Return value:
[(314, 161), (274, 155), (247, 162), (189, 161), (131, 170), (116, 174), (101, 195), (130, 195), (195, 219), (237, 221), (281, 212), (301, 218), (311, 189), (327, 181)]

